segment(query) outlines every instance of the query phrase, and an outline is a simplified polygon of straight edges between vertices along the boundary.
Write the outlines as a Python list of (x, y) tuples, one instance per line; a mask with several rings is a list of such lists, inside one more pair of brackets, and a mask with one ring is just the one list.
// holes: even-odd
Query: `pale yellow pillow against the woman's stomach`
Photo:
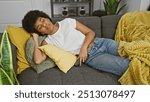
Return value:
[(39, 49), (49, 56), (64, 73), (68, 72), (77, 59), (75, 55), (53, 45), (44, 45)]

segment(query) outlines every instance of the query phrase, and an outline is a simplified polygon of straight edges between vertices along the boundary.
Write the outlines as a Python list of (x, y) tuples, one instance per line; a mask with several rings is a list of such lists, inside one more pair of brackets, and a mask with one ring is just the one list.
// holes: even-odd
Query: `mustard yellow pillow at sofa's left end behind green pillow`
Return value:
[(15, 27), (12, 25), (9, 25), (7, 27), (7, 32), (9, 33), (11, 42), (17, 48), (17, 74), (20, 74), (23, 70), (30, 66), (26, 60), (24, 50), (26, 42), (30, 37), (30, 34), (28, 34), (23, 28)]

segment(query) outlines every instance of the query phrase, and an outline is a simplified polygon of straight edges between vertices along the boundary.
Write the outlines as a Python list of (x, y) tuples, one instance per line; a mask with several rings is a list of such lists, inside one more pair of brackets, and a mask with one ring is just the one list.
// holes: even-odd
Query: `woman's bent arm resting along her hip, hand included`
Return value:
[(92, 29), (85, 26), (84, 24), (80, 23), (79, 21), (76, 21), (76, 29), (82, 32), (86, 36), (82, 44), (82, 47), (80, 49), (80, 53), (78, 57), (80, 60), (80, 65), (81, 65), (81, 63), (84, 62), (87, 58), (88, 47), (94, 41), (95, 32)]

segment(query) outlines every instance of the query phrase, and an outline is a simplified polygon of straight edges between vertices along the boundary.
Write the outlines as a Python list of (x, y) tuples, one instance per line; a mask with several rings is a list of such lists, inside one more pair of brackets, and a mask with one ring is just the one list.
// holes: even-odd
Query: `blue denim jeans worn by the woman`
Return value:
[(119, 44), (107, 38), (95, 38), (85, 63), (92, 68), (121, 76), (128, 68), (129, 59), (119, 56)]

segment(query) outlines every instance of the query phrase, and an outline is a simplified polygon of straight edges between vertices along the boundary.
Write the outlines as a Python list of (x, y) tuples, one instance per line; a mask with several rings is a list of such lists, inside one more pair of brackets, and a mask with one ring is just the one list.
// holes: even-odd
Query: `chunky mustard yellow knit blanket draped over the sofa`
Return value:
[(120, 43), (119, 54), (131, 60), (120, 83), (150, 84), (150, 12), (126, 13), (119, 21), (115, 40)]

